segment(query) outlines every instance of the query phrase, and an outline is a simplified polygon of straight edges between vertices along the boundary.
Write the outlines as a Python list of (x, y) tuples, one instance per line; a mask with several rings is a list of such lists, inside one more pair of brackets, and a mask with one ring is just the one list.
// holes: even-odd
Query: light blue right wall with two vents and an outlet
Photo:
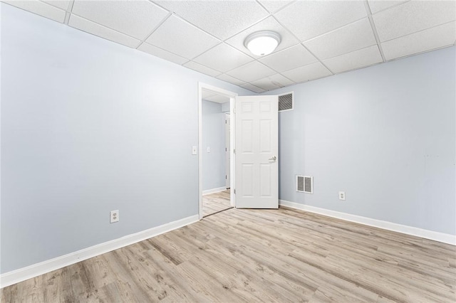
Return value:
[[(279, 197), (455, 235), (455, 53), (268, 92), (295, 97), (279, 114)], [(314, 194), (295, 191), (296, 174), (314, 176)]]

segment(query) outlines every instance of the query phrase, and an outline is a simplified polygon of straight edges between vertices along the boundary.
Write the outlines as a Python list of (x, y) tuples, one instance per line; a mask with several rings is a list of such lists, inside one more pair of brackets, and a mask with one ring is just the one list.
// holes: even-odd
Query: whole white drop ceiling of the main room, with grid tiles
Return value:
[[(456, 43), (456, 1), (86, 1), (7, 4), (254, 92)], [(280, 33), (274, 53), (244, 47)]]

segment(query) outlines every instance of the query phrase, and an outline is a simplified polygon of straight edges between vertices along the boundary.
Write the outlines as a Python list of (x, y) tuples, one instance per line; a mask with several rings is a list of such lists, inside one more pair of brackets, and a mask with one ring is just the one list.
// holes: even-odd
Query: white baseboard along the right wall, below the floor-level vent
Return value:
[(397, 223), (391, 223), (388, 221), (351, 215), (350, 213), (341, 213), (338, 211), (330, 211), (330, 210), (324, 209), (324, 208), (318, 208), (315, 206), (309, 206), (309, 205), (304, 205), (301, 203), (290, 202), (290, 201), (285, 201), (285, 200), (279, 200), (279, 205), (286, 206), (289, 208), (299, 209), (301, 211), (309, 211), (311, 213), (318, 213), (323, 216), (338, 218), (341, 220), (361, 223), (361, 224), (373, 226), (376, 228), (392, 230), (392, 231), (395, 231), (398, 233), (405, 233), (407, 235), (415, 235), (420, 238), (435, 240), (435, 241), (442, 242), (442, 243), (456, 245), (456, 235), (450, 235), (447, 233), (438, 233), (436, 231), (425, 230), (422, 228), (415, 228), (413, 226), (401, 225), (401, 224), (397, 224)]

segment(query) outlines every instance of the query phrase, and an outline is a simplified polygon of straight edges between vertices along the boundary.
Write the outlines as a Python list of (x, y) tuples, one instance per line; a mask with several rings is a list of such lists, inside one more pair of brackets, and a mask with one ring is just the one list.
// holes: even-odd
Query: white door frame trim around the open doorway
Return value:
[[(230, 92), (229, 90), (224, 90), (219, 87), (215, 87), (206, 83), (198, 83), (198, 200), (199, 200), (199, 220), (202, 219), (202, 90), (210, 90), (211, 92), (216, 92), (218, 95), (223, 95), (229, 97), (229, 113), (231, 114), (232, 119), (234, 118), (234, 98), (237, 97), (236, 92)], [(229, 190), (229, 203), (231, 206), (236, 206), (236, 197), (234, 196), (234, 169), (235, 169), (235, 159), (234, 159), (234, 123), (230, 125), (230, 135), (229, 135), (229, 144), (230, 144), (230, 173), (231, 173), (231, 188)]]

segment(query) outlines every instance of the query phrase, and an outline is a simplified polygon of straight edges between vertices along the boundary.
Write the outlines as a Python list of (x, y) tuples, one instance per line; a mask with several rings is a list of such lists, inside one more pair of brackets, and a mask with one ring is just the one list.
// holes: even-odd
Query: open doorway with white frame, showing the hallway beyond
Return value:
[(234, 207), (234, 127), (237, 94), (199, 83), (199, 219)]

